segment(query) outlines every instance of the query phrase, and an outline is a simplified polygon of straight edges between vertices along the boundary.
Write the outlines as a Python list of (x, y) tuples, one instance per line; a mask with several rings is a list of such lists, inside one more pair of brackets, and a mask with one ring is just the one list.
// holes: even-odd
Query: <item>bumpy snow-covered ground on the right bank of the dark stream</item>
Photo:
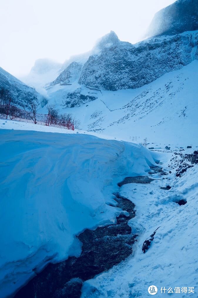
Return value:
[[(163, 160), (163, 167), (172, 171), (171, 174), (165, 179), (159, 176), (150, 184), (131, 183), (121, 187), (121, 195), (136, 205), (136, 216), (129, 222), (132, 232), (140, 235), (134, 254), (85, 282), (82, 298), (151, 297), (148, 293), (150, 285), (157, 286), (156, 297), (171, 296), (168, 291), (161, 294), (162, 287), (166, 290), (172, 288), (173, 293), (174, 288), (179, 287), (180, 293), (172, 294), (175, 297), (198, 297), (198, 166), (195, 164), (179, 178), (175, 176), (178, 163), (170, 160), (175, 158), (175, 154), (159, 152), (157, 156)], [(172, 188), (160, 189), (166, 185)], [(181, 206), (175, 203), (180, 199), (187, 203)], [(144, 241), (158, 227), (150, 248), (144, 254)], [(187, 294), (182, 294), (182, 287), (187, 287)], [(188, 287), (194, 287), (194, 294), (188, 293)]]

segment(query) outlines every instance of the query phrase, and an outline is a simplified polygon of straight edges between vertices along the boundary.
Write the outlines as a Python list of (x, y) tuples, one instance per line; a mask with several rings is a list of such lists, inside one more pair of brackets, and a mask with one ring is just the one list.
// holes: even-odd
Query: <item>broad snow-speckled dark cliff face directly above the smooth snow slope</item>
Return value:
[(136, 45), (119, 41), (89, 57), (79, 83), (111, 91), (139, 88), (197, 59), (197, 44), (197, 32)]

